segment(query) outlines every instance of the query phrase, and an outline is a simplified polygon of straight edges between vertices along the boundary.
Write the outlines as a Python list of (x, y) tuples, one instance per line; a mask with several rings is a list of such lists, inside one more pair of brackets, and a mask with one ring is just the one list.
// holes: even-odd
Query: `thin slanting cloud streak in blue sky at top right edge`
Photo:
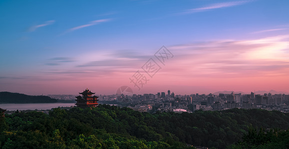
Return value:
[(195, 13), (200, 11), (207, 11), (212, 9), (218, 9), (218, 8), (225, 8), (225, 7), (232, 7), (236, 5), (241, 5), (250, 2), (249, 0), (239, 0), (239, 1), (230, 1), (230, 2), (220, 2), (220, 3), (214, 3), (210, 4), (204, 7), (189, 9), (184, 12), (181, 12), (179, 14), (189, 14), (189, 13)]

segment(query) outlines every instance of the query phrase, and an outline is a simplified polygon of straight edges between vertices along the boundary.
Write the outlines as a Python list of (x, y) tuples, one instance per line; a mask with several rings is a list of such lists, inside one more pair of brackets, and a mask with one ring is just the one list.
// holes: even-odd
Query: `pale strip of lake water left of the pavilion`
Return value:
[(74, 103), (9, 103), (9, 104), (0, 104), (0, 108), (7, 109), (8, 111), (15, 110), (50, 110), (51, 108), (57, 107), (70, 107), (75, 106)]

